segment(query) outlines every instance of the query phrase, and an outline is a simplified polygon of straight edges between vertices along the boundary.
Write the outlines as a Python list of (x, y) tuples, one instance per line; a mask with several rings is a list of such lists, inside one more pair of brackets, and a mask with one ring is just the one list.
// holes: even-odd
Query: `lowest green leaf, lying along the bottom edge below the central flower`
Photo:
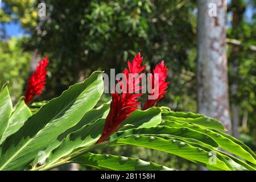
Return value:
[(87, 153), (71, 160), (70, 163), (79, 163), (97, 169), (114, 170), (114, 171), (174, 171), (152, 162), (146, 162), (141, 159), (127, 158), (125, 156), (102, 155)]

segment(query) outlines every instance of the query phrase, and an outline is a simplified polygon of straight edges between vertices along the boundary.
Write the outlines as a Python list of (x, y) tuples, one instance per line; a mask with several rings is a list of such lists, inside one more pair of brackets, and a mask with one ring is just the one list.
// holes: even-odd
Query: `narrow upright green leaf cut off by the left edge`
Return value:
[(0, 140), (6, 131), (9, 117), (11, 115), (11, 110), (13, 108), (7, 84), (8, 83), (3, 85), (0, 93)]

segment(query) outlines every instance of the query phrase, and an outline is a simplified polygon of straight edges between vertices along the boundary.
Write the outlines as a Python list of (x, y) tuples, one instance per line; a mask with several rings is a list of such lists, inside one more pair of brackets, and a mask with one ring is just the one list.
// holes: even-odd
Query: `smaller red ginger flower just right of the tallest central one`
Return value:
[[(167, 85), (169, 84), (169, 82), (166, 82), (167, 71), (168, 71), (168, 68), (164, 66), (164, 61), (161, 61), (161, 63), (155, 66), (155, 69), (153, 70), (154, 76), (152, 76), (151, 74), (151, 78), (149, 79), (150, 80), (149, 82), (151, 82), (151, 84), (154, 85), (154, 83), (158, 81), (158, 86), (157, 88), (152, 89), (152, 93), (149, 94), (149, 96), (154, 96), (155, 92), (158, 93), (158, 96), (156, 99), (151, 99), (151, 100), (150, 98), (148, 98), (149, 96), (147, 96), (147, 100), (142, 110), (147, 110), (148, 108), (155, 106), (156, 102), (158, 102), (161, 98), (163, 98), (163, 95), (167, 92), (166, 89), (168, 88)], [(158, 74), (158, 79), (155, 79), (155, 74)]]

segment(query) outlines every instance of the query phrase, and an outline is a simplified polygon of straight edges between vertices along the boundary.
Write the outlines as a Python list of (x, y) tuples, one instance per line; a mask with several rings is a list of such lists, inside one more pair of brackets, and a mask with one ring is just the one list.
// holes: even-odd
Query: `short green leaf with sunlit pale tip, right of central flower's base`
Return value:
[(132, 128), (153, 127), (158, 125), (161, 121), (161, 109), (159, 107), (151, 107), (144, 111), (135, 110), (122, 122), (119, 131)]

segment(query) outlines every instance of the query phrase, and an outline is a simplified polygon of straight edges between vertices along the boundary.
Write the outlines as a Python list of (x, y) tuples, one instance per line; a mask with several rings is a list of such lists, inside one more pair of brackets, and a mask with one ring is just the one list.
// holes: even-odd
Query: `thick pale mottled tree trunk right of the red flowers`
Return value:
[[(220, 120), (230, 133), (226, 1), (198, 0), (197, 4), (197, 109)], [(213, 5), (216, 5), (216, 16), (210, 14)]]

